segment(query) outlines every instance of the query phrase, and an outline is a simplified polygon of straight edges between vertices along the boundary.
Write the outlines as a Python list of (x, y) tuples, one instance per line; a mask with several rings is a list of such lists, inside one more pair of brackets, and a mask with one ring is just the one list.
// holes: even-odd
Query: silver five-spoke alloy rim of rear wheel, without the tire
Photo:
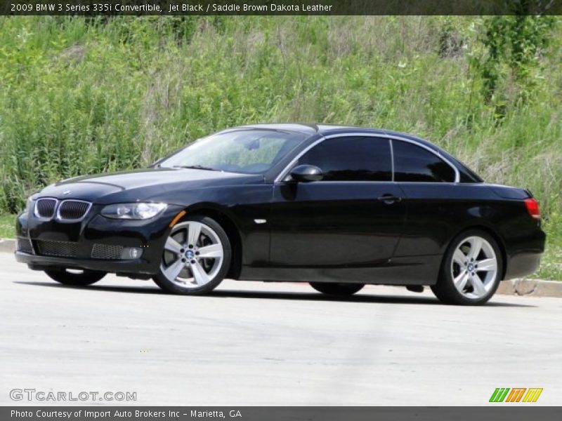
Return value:
[(462, 240), (451, 260), (451, 275), (455, 288), (466, 298), (483, 298), (494, 286), (497, 257), (492, 245), (481, 236)]

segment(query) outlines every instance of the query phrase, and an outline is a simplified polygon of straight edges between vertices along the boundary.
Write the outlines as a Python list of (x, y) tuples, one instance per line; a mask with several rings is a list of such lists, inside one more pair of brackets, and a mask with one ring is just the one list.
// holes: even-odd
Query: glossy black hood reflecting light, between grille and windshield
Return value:
[(93, 203), (152, 200), (178, 189), (263, 183), (263, 175), (188, 168), (148, 168), (85, 175), (45, 187), (37, 196), (81, 199)]

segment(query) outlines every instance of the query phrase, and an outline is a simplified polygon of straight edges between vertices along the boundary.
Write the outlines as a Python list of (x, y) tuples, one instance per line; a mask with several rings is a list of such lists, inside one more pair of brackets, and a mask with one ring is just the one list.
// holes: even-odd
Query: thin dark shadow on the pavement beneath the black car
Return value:
[[(36, 281), (14, 281), (21, 285), (44, 286), (47, 288), (62, 288), (72, 290), (87, 290), (89, 293), (109, 292), (109, 293), (134, 293), (134, 294), (155, 294), (178, 296), (165, 293), (157, 286), (114, 286), (114, 285), (91, 285), (91, 286), (65, 286), (59, 283), (36, 282)], [(185, 297), (188, 299), (188, 297)], [(259, 291), (259, 290), (214, 290), (207, 295), (193, 295), (189, 299), (205, 298), (249, 298), (266, 300), (294, 300), (294, 301), (334, 301), (334, 302), (365, 302), (382, 304), (423, 304), (423, 305), (442, 305), (437, 298), (428, 296), (407, 296), (407, 295), (373, 295), (358, 293), (350, 297), (338, 297), (334, 295), (323, 295), (315, 292), (287, 292), (287, 291)], [(537, 307), (535, 305), (514, 304), (511, 302), (488, 302), (485, 307)]]

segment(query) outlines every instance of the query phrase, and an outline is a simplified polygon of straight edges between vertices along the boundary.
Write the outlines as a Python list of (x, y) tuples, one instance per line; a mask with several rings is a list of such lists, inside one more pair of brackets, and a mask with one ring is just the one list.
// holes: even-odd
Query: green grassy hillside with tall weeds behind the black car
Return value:
[(562, 278), (561, 21), (527, 67), (499, 69), (491, 98), (488, 29), (472, 17), (0, 18), (0, 210), (227, 126), (378, 126), (530, 188), (550, 234), (540, 276)]

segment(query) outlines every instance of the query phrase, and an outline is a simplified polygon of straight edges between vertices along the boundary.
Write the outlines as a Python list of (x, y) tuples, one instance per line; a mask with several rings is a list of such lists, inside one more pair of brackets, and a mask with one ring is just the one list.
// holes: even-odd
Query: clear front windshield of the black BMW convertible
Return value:
[(263, 174), (305, 138), (303, 133), (263, 129), (217, 133), (197, 140), (159, 166)]

